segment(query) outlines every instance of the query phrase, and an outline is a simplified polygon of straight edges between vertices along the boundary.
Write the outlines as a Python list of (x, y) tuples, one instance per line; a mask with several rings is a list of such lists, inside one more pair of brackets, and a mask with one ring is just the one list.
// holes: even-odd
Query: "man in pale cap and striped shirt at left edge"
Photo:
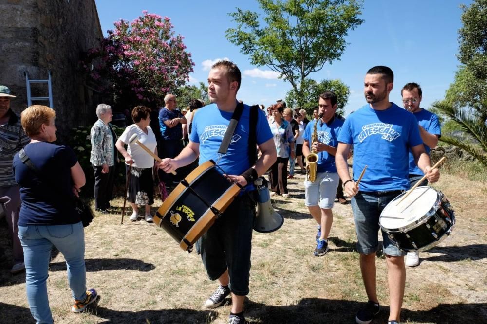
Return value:
[(0, 85), (0, 197), (7, 196), (10, 201), (5, 203), (5, 214), (8, 231), (12, 235), (12, 255), (14, 266), (12, 274), (25, 270), (24, 252), (20, 245), (17, 222), (20, 211), (20, 188), (12, 174), (14, 155), (30, 141), (20, 125), (20, 117), (10, 109), (10, 90)]

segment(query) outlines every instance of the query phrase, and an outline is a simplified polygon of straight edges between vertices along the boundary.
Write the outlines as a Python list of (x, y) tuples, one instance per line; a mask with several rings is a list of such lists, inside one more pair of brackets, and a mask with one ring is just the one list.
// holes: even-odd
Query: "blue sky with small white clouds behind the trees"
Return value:
[[(196, 64), (191, 81), (204, 81), (208, 66), (218, 58), (229, 58), (243, 73), (238, 98), (248, 104), (268, 106), (284, 99), (291, 85), (277, 79), (269, 68), (252, 66), (240, 54), (240, 48), (225, 38), (227, 28), (235, 23), (227, 15), (236, 7), (260, 12), (253, 0), (156, 1), (96, 0), (103, 32), (113, 28), (121, 18), (133, 20), (143, 10), (168, 16), (176, 34), (185, 37), (187, 50)], [(459, 64), (458, 29), (462, 26), (458, 0), (365, 0), (360, 18), (365, 22), (345, 38), (349, 43), (341, 60), (325, 64), (311, 75), (317, 81), (341, 79), (351, 95), (345, 115), (365, 104), (363, 79), (375, 65), (386, 65), (394, 72), (394, 89), (390, 99), (400, 104), (401, 88), (407, 82), (418, 82), (423, 89), (422, 108), (443, 99), (453, 82)]]

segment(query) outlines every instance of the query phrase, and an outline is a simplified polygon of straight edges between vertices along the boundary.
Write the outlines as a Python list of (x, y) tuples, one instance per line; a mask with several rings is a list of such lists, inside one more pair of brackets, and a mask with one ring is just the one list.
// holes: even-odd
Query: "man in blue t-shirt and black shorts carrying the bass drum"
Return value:
[[(193, 162), (198, 155), (200, 164), (210, 159), (244, 186), (238, 196), (201, 237), (201, 257), (208, 277), (220, 285), (206, 300), (207, 308), (222, 304), (232, 292), (230, 323), (244, 323), (244, 298), (249, 292), (250, 251), (255, 201), (251, 197), (255, 189), (253, 181), (268, 170), (276, 161), (276, 147), (269, 124), (262, 111), (258, 111), (256, 142), (262, 156), (252, 165), (249, 161), (250, 107), (244, 105), (242, 116), (226, 155), (219, 160), (218, 149), (237, 106), (237, 91), (241, 83), (239, 68), (232, 62), (215, 63), (208, 75), (208, 96), (212, 104), (202, 108), (194, 116), (189, 144), (174, 159), (164, 159), (161, 168), (165, 172), (176, 170)], [(208, 183), (208, 189), (211, 183)]]

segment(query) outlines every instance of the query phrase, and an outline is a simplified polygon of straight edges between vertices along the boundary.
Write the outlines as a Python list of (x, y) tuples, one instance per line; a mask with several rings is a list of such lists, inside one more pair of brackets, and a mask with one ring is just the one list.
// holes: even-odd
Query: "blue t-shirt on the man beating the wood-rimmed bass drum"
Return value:
[[(216, 104), (210, 104), (198, 110), (194, 115), (192, 130), (189, 139), (200, 144), (200, 164), (218, 160), (218, 149), (222, 144), (226, 128), (230, 123), (233, 112), (226, 112), (218, 109)], [(250, 123), (250, 107), (244, 105), (244, 111), (228, 146), (225, 155), (218, 162), (226, 174), (240, 175), (250, 165), (248, 156), (248, 137)], [(256, 126), (257, 145), (260, 145), (272, 138), (269, 123), (262, 110), (257, 114)], [(253, 185), (246, 188), (253, 189)]]

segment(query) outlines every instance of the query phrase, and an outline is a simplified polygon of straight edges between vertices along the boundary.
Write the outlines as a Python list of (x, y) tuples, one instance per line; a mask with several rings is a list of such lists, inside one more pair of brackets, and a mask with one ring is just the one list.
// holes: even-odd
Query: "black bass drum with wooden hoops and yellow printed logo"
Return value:
[(168, 232), (181, 249), (190, 251), (239, 192), (240, 187), (218, 172), (215, 162), (209, 160), (170, 193), (154, 216), (154, 223)]

